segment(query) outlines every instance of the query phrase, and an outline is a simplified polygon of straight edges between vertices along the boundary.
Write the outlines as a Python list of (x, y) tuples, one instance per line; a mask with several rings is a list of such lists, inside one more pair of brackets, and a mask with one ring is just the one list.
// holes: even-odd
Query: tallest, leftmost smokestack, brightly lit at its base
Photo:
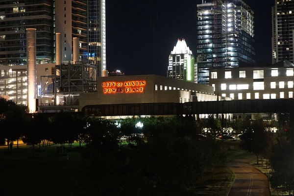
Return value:
[(36, 112), (36, 29), (26, 29), (27, 106), (29, 113)]

